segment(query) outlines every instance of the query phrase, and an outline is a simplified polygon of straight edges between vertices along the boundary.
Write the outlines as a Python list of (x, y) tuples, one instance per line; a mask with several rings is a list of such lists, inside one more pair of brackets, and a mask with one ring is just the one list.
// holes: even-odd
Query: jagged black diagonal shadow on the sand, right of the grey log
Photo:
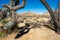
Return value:
[(18, 39), (18, 38), (20, 38), (21, 36), (23, 36), (24, 34), (27, 34), (27, 33), (30, 31), (29, 26), (30, 26), (29, 24), (26, 24), (25, 27), (19, 28), (19, 32), (18, 32), (18, 34), (16, 35), (15, 39)]

